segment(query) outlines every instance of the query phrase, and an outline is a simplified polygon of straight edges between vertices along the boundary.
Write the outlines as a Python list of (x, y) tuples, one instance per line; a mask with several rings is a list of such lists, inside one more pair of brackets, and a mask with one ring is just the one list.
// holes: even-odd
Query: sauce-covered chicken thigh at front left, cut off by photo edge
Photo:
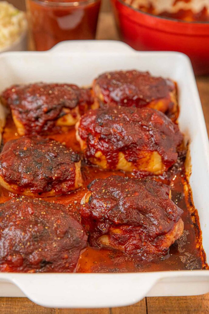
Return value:
[(81, 224), (61, 204), (12, 198), (0, 204), (0, 270), (73, 272), (87, 244)]

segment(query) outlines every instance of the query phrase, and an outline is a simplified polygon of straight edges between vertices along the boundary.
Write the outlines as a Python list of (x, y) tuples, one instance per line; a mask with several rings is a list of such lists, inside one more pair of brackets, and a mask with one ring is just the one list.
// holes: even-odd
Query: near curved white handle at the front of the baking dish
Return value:
[[(47, 307), (127, 306), (143, 299), (159, 274), (18, 274), (1, 273), (32, 301)], [(140, 276), (138, 276), (140, 275)], [(140, 278), (139, 278), (140, 277)]]

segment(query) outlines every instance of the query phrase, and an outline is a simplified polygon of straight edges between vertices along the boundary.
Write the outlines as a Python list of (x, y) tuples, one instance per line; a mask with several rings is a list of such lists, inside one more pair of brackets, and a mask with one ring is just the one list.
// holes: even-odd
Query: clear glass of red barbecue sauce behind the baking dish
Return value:
[(95, 39), (101, 0), (26, 0), (34, 48), (60, 41)]

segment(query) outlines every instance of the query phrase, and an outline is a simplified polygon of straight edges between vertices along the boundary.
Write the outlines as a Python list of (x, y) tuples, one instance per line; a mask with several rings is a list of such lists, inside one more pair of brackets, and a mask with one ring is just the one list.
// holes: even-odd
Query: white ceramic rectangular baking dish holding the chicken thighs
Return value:
[[(0, 92), (11, 84), (35, 81), (89, 85), (107, 70), (149, 70), (179, 87), (180, 130), (191, 140), (190, 184), (199, 212), (203, 246), (209, 256), (209, 145), (191, 63), (178, 52), (138, 52), (116, 41), (66, 41), (47, 52), (0, 55)], [(26, 295), (49, 307), (126, 306), (144, 296), (209, 292), (209, 271), (121, 274), (0, 273), (0, 296)]]

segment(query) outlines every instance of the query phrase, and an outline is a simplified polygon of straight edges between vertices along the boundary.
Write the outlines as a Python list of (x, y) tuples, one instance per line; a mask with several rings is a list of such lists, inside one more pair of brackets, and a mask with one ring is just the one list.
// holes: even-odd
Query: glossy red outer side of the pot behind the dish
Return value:
[(209, 74), (209, 23), (162, 18), (111, 0), (123, 41), (136, 50), (180, 51), (195, 74)]

